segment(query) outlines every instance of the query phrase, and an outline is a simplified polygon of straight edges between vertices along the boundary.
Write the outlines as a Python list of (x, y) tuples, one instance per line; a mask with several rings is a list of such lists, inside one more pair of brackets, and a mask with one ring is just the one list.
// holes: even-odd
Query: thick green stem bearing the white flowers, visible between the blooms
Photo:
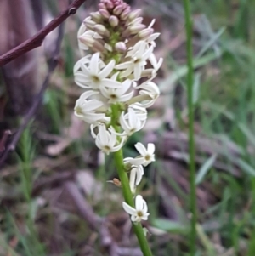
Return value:
[[(119, 127), (116, 123), (117, 120), (118, 120), (119, 114), (120, 114), (118, 105), (112, 105), (111, 110), (112, 110), (111, 125), (113, 126), (113, 128), (116, 129), (116, 131), (118, 131)], [(131, 207), (134, 208), (133, 195), (132, 195), (132, 192), (130, 190), (127, 173), (124, 170), (122, 149), (119, 150), (119, 151), (116, 151), (114, 153), (114, 160), (115, 160), (116, 169), (117, 169), (119, 178), (122, 182), (122, 193), (123, 193), (123, 196), (124, 196), (124, 200)], [(135, 232), (135, 235), (138, 238), (139, 246), (140, 246), (144, 256), (152, 256), (148, 241), (147, 241), (147, 239), (144, 235), (144, 230), (143, 230), (142, 225), (140, 223), (133, 224), (133, 230)]]

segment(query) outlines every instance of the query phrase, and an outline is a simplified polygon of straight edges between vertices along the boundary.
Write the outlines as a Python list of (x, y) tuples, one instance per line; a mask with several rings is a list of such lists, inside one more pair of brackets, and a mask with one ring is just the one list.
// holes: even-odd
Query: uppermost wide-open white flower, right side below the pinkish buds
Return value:
[(134, 80), (139, 80), (142, 71), (144, 71), (144, 66), (147, 64), (146, 60), (150, 57), (153, 52), (153, 46), (147, 48), (147, 43), (144, 41), (139, 41), (136, 43), (128, 53), (126, 57), (131, 57), (124, 63), (116, 65), (117, 70), (122, 71), (121, 77), (128, 77), (133, 73)]

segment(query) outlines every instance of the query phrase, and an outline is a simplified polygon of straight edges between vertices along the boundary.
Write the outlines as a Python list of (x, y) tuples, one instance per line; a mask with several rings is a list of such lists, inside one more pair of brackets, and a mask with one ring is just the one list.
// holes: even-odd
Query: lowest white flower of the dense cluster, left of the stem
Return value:
[[(125, 141), (125, 137), (122, 137), (121, 141), (118, 141), (115, 133), (111, 129), (106, 129), (105, 124), (100, 124), (99, 133), (96, 135), (95, 144), (97, 147), (109, 155), (110, 152), (119, 151)], [(113, 129), (113, 128), (112, 128)]]

